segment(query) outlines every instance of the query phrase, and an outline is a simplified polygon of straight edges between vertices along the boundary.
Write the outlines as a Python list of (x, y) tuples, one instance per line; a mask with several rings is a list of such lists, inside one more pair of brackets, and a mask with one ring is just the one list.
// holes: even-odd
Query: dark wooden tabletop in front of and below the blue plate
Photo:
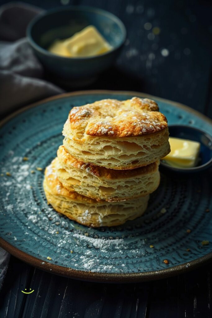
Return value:
[[(100, 284), (45, 273), (11, 257), (0, 317), (210, 318), (211, 265), (166, 280)], [(21, 290), (32, 288), (32, 294)]]

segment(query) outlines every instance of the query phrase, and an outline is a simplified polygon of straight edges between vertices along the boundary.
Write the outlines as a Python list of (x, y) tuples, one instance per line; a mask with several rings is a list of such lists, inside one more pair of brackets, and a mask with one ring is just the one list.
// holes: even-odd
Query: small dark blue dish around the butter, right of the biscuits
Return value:
[(212, 165), (212, 137), (204, 131), (186, 125), (169, 125), (170, 137), (188, 139), (200, 142), (200, 154), (198, 165), (192, 168), (176, 168), (161, 160), (161, 166), (176, 172), (199, 172), (208, 169)]

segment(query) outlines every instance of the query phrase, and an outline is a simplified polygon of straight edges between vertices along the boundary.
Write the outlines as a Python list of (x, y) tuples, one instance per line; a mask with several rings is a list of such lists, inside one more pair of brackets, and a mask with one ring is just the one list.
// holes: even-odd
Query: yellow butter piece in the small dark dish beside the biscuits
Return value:
[(170, 165), (181, 168), (195, 167), (200, 152), (200, 143), (169, 137), (171, 152), (163, 158)]

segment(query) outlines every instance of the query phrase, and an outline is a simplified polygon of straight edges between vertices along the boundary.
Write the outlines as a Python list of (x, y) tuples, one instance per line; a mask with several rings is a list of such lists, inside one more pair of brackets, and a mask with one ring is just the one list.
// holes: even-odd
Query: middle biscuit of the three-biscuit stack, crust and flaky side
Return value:
[(144, 197), (160, 183), (159, 161), (133, 170), (113, 170), (79, 162), (60, 146), (55, 159), (59, 181), (69, 191), (109, 202)]

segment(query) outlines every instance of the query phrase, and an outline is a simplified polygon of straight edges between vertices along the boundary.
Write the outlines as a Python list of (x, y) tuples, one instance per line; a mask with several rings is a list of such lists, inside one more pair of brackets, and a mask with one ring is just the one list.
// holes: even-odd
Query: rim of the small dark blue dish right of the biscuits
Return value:
[[(206, 133), (204, 130), (200, 129), (200, 128), (196, 128), (196, 127), (192, 127), (192, 126), (189, 126), (189, 125), (177, 125), (177, 124), (171, 124), (171, 125), (168, 125), (168, 127), (183, 127), (183, 128), (188, 128), (188, 129), (191, 129), (191, 130), (196, 130), (198, 131), (199, 133), (201, 133), (202, 135), (205, 135), (212, 143), (212, 136), (209, 135), (208, 133)], [(172, 137), (172, 136), (170, 136)], [(209, 159), (209, 161), (207, 161), (206, 163), (204, 164), (201, 164), (200, 166), (197, 166), (197, 167), (190, 167), (190, 168), (176, 168), (176, 167), (172, 167), (170, 165), (168, 165), (166, 162), (163, 162), (161, 160), (161, 166), (165, 167), (165, 168), (168, 168), (170, 170), (173, 170), (173, 171), (176, 171), (176, 172), (179, 172), (179, 171), (182, 171), (182, 172), (197, 172), (197, 171), (200, 171), (200, 170), (203, 170), (203, 169), (206, 169), (207, 167), (209, 168), (209, 166), (212, 164), (212, 157)]]

